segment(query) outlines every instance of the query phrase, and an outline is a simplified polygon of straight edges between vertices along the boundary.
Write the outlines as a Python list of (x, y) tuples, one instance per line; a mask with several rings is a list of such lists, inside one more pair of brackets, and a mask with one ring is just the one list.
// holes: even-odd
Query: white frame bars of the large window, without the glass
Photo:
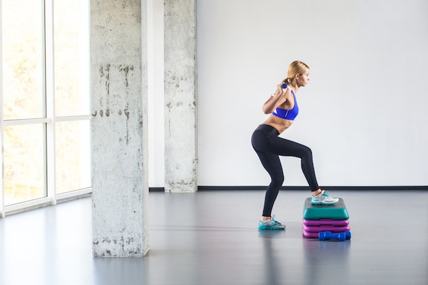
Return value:
[[(92, 193), (92, 186), (84, 189), (76, 189), (68, 191), (66, 193), (56, 193), (56, 167), (55, 167), (55, 124), (57, 122), (76, 122), (79, 120), (92, 120), (92, 116), (88, 115), (79, 115), (79, 116), (63, 116), (55, 117), (55, 49), (54, 49), (54, 10), (53, 10), (53, 1), (54, 0), (44, 0), (41, 1), (42, 4), (42, 16), (44, 18), (43, 22), (43, 51), (44, 51), (44, 66), (43, 66), (43, 77), (44, 77), (44, 105), (45, 113), (44, 118), (34, 118), (34, 119), (18, 119), (18, 120), (3, 120), (3, 111), (0, 112), (0, 146), (1, 146), (1, 193), (0, 193), (0, 217), (5, 217), (5, 215), (10, 215), (13, 213), (19, 213), (33, 208), (39, 208), (40, 206), (49, 206), (55, 205), (58, 202), (72, 200), (79, 198), (81, 196), (90, 195)], [(90, 5), (88, 1), (88, 6)], [(89, 9), (89, 8), (88, 8)], [(0, 15), (2, 13), (2, 7), (0, 5)], [(88, 15), (89, 16), (89, 15)], [(0, 21), (0, 29), (3, 30), (3, 23)], [(89, 27), (88, 27), (89, 29)], [(3, 33), (2, 33), (3, 34)], [(90, 52), (88, 46), (88, 53)], [(90, 65), (88, 63), (88, 74), (89, 74)], [(0, 35), (0, 86), (3, 86), (3, 36)], [(88, 90), (90, 93), (90, 90)], [(0, 104), (3, 108), (3, 88), (0, 88)], [(23, 124), (44, 124), (46, 131), (45, 137), (45, 154), (46, 154), (46, 163), (44, 167), (46, 168), (46, 197), (38, 198), (35, 200), (27, 200), (18, 204), (12, 204), (5, 206), (5, 188), (4, 188), (4, 143), (3, 143), (3, 133), (5, 126), (16, 126)], [(90, 148), (90, 145), (88, 145)]]

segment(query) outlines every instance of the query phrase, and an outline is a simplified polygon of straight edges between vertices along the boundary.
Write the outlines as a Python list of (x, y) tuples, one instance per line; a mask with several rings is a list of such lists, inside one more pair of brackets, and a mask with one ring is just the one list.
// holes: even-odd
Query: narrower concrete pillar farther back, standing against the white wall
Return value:
[(165, 191), (195, 192), (196, 0), (164, 0)]

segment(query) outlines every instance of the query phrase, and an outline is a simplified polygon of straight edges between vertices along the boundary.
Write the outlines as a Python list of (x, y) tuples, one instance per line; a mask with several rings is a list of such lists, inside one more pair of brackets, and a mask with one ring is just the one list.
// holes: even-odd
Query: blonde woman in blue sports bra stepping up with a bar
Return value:
[(312, 204), (330, 205), (338, 202), (338, 198), (331, 198), (327, 191), (319, 188), (310, 148), (278, 137), (280, 133), (293, 124), (293, 120), (299, 113), (295, 95), (299, 87), (306, 86), (309, 80), (309, 67), (303, 62), (292, 62), (286, 79), (276, 87), (275, 94), (263, 105), (263, 112), (265, 114), (270, 113), (269, 118), (260, 124), (252, 135), (252, 146), (256, 150), (263, 167), (271, 176), (271, 183), (266, 190), (263, 215), (258, 222), (260, 230), (282, 230), (285, 228), (284, 225), (271, 217), (273, 203), (278, 196), (282, 182), (284, 182), (280, 155), (302, 159), (302, 170), (312, 191)]

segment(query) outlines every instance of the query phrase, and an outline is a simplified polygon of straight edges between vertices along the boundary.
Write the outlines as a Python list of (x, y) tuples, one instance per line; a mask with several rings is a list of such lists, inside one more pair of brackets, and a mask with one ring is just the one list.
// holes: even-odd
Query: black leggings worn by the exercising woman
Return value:
[(315, 177), (314, 163), (312, 162), (312, 151), (307, 146), (297, 144), (288, 139), (278, 137), (280, 133), (273, 126), (261, 124), (254, 131), (251, 142), (256, 150), (260, 161), (271, 176), (271, 184), (267, 187), (263, 216), (270, 217), (273, 203), (284, 182), (284, 172), (280, 162), (280, 155), (284, 157), (299, 157), (302, 159), (302, 170), (308, 181), (311, 191), (319, 189)]

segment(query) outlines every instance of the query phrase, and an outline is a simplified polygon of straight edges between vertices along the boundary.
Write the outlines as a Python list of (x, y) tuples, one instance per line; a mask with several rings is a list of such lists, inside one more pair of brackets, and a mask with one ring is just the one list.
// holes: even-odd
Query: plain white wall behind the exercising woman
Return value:
[[(163, 187), (163, 1), (153, 1), (150, 187)], [(267, 185), (252, 150), (261, 107), (310, 66), (281, 136), (312, 148), (320, 185), (428, 185), (428, 2), (199, 0), (198, 185)], [(161, 17), (161, 18), (160, 18)], [(284, 185), (306, 186), (282, 159)]]

